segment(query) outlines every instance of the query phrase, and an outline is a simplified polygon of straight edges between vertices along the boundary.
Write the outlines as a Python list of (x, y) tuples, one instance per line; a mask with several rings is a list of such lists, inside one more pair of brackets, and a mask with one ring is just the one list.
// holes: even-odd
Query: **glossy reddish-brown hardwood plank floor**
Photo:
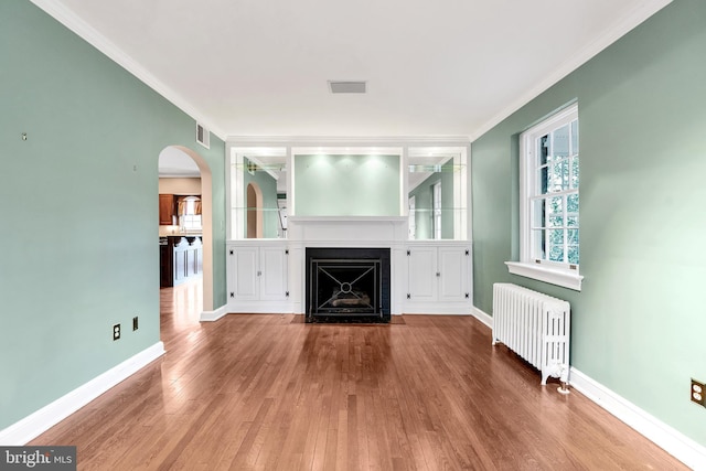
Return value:
[(32, 445), (79, 470), (680, 470), (471, 317), (388, 325), (229, 314), (200, 283), (161, 290), (167, 355)]

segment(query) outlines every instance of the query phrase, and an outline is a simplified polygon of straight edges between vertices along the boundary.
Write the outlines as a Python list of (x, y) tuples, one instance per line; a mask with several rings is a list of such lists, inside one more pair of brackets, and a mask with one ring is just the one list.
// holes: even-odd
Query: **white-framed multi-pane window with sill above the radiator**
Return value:
[(520, 136), (520, 263), (511, 272), (580, 290), (578, 107)]

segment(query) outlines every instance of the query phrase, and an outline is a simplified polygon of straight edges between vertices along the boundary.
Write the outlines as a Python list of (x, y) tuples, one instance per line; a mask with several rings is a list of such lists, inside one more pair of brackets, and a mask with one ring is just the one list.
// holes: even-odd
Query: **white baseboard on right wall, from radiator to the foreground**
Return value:
[(571, 367), (571, 386), (694, 470), (706, 470), (703, 447), (634, 404)]

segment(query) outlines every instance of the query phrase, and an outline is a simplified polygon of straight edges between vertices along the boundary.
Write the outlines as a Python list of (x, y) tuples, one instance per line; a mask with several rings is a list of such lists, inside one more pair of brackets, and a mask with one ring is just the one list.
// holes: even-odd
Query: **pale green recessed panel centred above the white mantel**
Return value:
[(399, 216), (399, 156), (295, 156), (297, 216)]

